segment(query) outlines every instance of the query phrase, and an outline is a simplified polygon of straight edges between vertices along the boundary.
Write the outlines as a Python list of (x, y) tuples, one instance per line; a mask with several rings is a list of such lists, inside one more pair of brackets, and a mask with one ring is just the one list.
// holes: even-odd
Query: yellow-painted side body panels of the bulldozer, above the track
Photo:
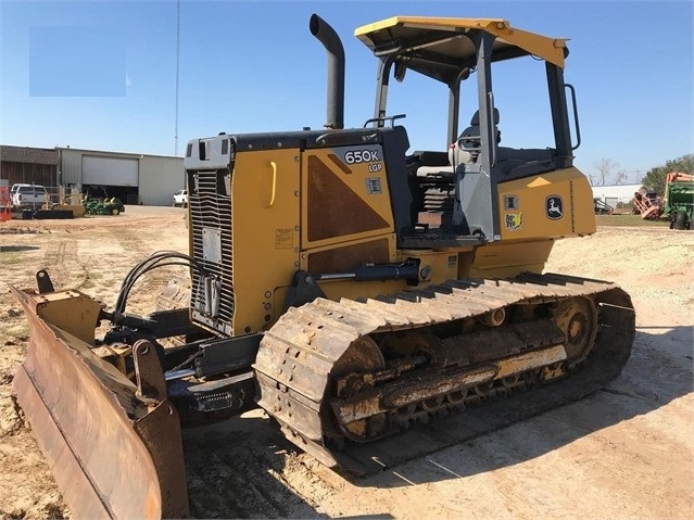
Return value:
[[(282, 313), (289, 286), (296, 270), (307, 269), (313, 253), (387, 240), (390, 262), (407, 257), (421, 261), (419, 288), (466, 276), (508, 278), (523, 271), (541, 272), (554, 239), (594, 232), (592, 193), (588, 180), (576, 168), (499, 185), (500, 242), (476, 250), (399, 251), (394, 234), (386, 172), (369, 170), (368, 164), (340, 165), (335, 156), (344, 150), (300, 152), (268, 150), (240, 152), (232, 175), (232, 274), (235, 288), (234, 333), (266, 329)], [(387, 227), (310, 242), (307, 157), (315, 154), (348, 189), (365, 201)], [(332, 154), (333, 157), (328, 155)], [(384, 166), (384, 165), (383, 165)], [(367, 178), (380, 178), (380, 193), (369, 193)], [(517, 207), (504, 210), (504, 195), (513, 195)], [(560, 196), (564, 215), (546, 216), (546, 198)], [(506, 215), (512, 226), (505, 226)], [(249, 254), (253, 252), (253, 254)], [(356, 267), (356, 266), (355, 266)], [(355, 282), (321, 281), (328, 299), (374, 297), (406, 289), (402, 280)]]

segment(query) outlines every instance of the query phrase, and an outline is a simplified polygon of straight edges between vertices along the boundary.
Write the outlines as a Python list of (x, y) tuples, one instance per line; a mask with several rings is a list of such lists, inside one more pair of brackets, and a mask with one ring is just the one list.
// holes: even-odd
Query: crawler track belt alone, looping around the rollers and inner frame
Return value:
[[(479, 408), (418, 426), (398, 436), (340, 452), (324, 446), (323, 399), (332, 366), (359, 337), (421, 329), (474, 318), (520, 303), (589, 296), (598, 305), (598, 332), (589, 362), (578, 373), (530, 392), (490, 399)], [(472, 439), (581, 398), (615, 379), (627, 363), (635, 333), (629, 295), (616, 284), (564, 275), (526, 275), (513, 280), (463, 279), (403, 291), (366, 302), (316, 300), (290, 308), (265, 334), (254, 365), (258, 404), (287, 437), (324, 464), (369, 473)]]

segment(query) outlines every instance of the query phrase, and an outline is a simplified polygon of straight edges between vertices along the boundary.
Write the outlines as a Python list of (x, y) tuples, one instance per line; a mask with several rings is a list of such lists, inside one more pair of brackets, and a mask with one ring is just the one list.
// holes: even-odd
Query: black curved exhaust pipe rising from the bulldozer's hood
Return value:
[(344, 128), (344, 48), (340, 37), (317, 14), (308, 22), (311, 34), (326, 48), (328, 53), (328, 105), (326, 128)]

